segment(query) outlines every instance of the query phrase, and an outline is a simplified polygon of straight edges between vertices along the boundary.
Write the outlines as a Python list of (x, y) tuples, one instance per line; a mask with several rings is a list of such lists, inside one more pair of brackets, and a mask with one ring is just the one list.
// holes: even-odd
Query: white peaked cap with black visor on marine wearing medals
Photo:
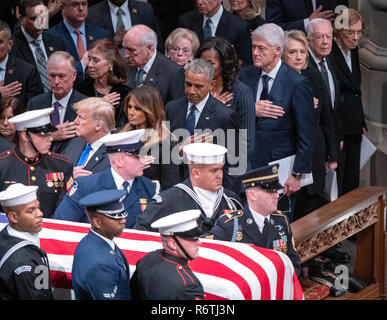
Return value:
[(16, 124), (17, 131), (28, 130), (32, 133), (49, 133), (58, 129), (51, 125), (50, 114), (54, 108), (31, 110), (18, 114), (9, 119), (10, 123)]

